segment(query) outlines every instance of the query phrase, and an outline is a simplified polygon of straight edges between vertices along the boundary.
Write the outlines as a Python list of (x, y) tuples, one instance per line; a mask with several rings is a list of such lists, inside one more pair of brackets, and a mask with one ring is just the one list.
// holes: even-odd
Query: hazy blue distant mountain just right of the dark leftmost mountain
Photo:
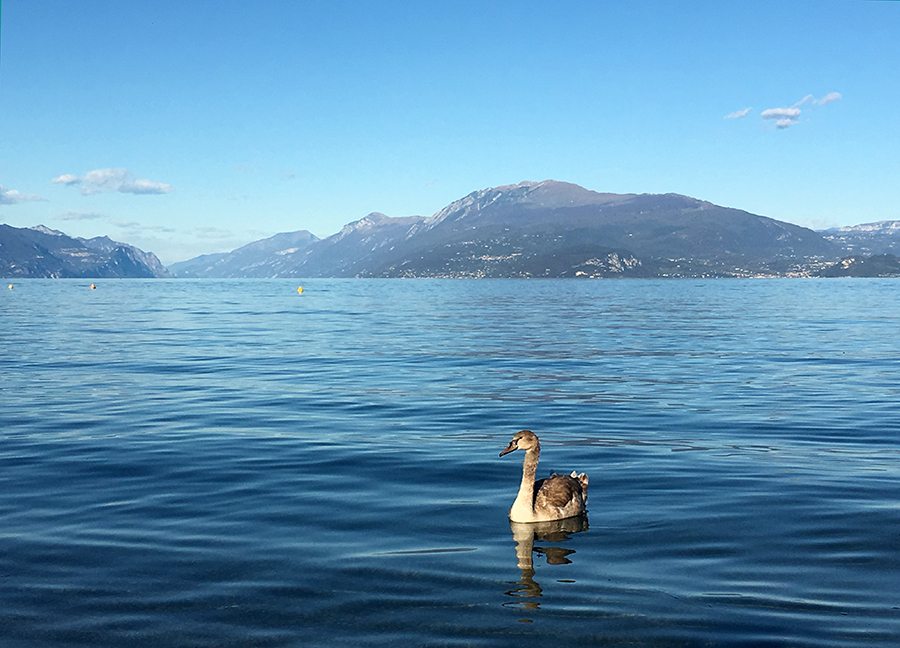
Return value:
[(294, 254), (318, 240), (306, 230), (285, 232), (232, 252), (204, 254), (173, 263), (169, 269), (177, 277), (277, 277), (293, 267)]

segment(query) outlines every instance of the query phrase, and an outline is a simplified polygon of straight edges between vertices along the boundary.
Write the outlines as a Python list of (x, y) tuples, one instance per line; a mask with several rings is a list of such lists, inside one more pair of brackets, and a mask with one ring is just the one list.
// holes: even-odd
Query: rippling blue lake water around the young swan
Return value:
[(0, 294), (2, 646), (900, 644), (896, 280), (88, 286)]

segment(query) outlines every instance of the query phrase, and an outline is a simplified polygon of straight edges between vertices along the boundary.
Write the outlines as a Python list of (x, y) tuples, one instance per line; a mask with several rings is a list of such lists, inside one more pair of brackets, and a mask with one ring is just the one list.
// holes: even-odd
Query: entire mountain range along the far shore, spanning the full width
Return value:
[[(546, 180), (475, 191), (431, 217), (381, 213), (319, 239), (276, 234), (162, 266), (107, 237), (0, 225), (7, 277), (742, 277), (900, 274), (900, 221), (816, 232), (679, 194)], [(874, 259), (868, 261), (870, 257)]]

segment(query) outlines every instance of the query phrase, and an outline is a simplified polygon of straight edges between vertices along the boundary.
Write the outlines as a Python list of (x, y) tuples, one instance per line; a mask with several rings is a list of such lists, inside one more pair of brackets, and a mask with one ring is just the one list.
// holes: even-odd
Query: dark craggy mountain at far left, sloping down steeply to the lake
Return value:
[(0, 276), (3, 277), (171, 277), (151, 252), (108, 237), (72, 238), (43, 225), (16, 228), (0, 224)]

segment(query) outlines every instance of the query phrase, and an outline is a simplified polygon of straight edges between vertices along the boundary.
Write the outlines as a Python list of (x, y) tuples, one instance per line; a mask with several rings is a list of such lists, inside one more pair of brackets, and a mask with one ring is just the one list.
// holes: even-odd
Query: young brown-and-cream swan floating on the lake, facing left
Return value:
[(522, 463), (522, 484), (516, 501), (509, 509), (509, 519), (513, 522), (546, 522), (562, 520), (584, 513), (587, 506), (587, 475), (581, 473), (557, 475), (534, 481), (541, 444), (531, 430), (517, 432), (513, 440), (500, 453), (502, 457), (513, 450), (525, 451)]

